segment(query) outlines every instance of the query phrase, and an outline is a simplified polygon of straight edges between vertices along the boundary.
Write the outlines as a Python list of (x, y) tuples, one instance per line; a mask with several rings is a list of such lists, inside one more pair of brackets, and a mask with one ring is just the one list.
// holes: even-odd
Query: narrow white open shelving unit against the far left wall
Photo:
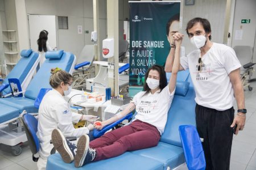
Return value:
[(3, 50), (5, 52), (6, 75), (8, 75), (18, 62), (18, 44), (15, 30), (3, 30)]

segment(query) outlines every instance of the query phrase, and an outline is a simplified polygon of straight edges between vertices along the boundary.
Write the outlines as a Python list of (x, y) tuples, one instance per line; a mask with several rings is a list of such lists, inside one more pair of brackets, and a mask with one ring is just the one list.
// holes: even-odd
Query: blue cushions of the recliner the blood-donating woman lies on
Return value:
[[(167, 74), (170, 77), (170, 74)], [(174, 169), (185, 163), (179, 126), (195, 125), (195, 91), (189, 71), (177, 76), (175, 96), (168, 112), (167, 124), (158, 146), (125, 152), (115, 158), (86, 164), (80, 169)], [(47, 169), (77, 169), (63, 162), (59, 154), (49, 156)]]

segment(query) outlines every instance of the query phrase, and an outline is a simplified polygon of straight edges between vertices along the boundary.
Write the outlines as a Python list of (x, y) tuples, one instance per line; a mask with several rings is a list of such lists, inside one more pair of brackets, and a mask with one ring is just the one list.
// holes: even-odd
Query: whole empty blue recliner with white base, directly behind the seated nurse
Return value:
[(21, 113), (24, 113), (24, 111), (27, 113), (38, 113), (38, 108), (35, 107), (34, 103), (42, 88), (51, 88), (49, 85), (51, 69), (59, 67), (72, 74), (75, 61), (76, 58), (72, 53), (63, 52), (63, 50), (47, 52), (46, 61), (31, 80), (24, 96), (0, 99), (0, 129), (6, 131), (6, 133), (0, 135), (1, 143), (16, 146), (27, 141), (24, 131), (21, 129), (18, 132), (13, 131), (9, 128), (8, 123), (17, 121), (18, 127), (21, 128)]

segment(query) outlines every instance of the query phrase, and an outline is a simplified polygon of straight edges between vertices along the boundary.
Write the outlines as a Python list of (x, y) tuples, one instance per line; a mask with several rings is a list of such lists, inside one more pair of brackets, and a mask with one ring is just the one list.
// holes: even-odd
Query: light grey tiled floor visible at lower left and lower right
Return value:
[[(246, 125), (243, 131), (233, 138), (231, 170), (256, 170), (256, 81), (251, 82), (253, 91), (245, 90), (245, 105), (247, 109)], [(0, 169), (36, 169), (36, 163), (32, 161), (30, 148), (25, 144), (23, 152), (19, 156), (10, 154), (10, 148), (0, 145)], [(185, 170), (182, 165), (177, 168)]]

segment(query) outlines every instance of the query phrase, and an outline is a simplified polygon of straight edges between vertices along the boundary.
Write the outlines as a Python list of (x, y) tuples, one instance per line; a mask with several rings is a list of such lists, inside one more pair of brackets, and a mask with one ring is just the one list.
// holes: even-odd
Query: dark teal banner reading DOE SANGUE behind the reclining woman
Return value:
[(133, 96), (133, 89), (142, 90), (149, 67), (165, 66), (172, 35), (179, 31), (180, 2), (130, 2), (130, 9), (129, 95)]

